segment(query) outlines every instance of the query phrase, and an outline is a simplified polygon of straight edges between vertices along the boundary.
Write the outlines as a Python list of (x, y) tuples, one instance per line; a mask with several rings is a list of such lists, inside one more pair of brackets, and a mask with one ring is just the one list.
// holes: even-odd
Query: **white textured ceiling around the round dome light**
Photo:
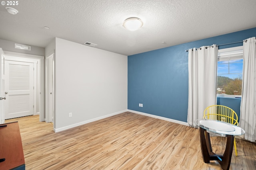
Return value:
[[(59, 37), (123, 55), (256, 27), (256, 0), (19, 0), (16, 15), (5, 7), (0, 39), (46, 47)], [(130, 17), (143, 27), (122, 27)]]

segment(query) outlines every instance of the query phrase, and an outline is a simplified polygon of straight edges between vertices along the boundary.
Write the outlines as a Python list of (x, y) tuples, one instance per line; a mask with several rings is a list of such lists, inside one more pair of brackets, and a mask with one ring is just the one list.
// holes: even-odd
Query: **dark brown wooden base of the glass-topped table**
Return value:
[(212, 152), (210, 134), (200, 127), (200, 142), (201, 151), (205, 163), (210, 163), (210, 160), (217, 160), (223, 170), (228, 170), (230, 167), (231, 156), (234, 145), (234, 135), (227, 135), (226, 149), (223, 155), (217, 155)]

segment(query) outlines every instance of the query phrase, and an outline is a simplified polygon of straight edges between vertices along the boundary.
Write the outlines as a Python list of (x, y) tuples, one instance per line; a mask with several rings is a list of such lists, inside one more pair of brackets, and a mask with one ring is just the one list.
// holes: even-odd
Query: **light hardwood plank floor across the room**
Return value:
[[(18, 121), (26, 170), (221, 170), (203, 162), (199, 129), (125, 112), (54, 133), (39, 116)], [(216, 154), (226, 138), (211, 137)], [(236, 139), (230, 170), (255, 170), (256, 145)]]

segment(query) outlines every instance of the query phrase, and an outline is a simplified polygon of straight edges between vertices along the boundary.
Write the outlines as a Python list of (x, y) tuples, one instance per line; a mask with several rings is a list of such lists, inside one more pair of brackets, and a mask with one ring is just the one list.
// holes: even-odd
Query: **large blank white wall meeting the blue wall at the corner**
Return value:
[(56, 132), (127, 109), (127, 56), (56, 38), (55, 66)]

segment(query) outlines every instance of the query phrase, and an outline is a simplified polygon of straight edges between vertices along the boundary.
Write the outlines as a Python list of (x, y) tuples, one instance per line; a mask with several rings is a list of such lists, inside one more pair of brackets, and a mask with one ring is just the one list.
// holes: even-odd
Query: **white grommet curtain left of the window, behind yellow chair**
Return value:
[(188, 50), (188, 124), (202, 119), (204, 109), (216, 104), (218, 47)]

